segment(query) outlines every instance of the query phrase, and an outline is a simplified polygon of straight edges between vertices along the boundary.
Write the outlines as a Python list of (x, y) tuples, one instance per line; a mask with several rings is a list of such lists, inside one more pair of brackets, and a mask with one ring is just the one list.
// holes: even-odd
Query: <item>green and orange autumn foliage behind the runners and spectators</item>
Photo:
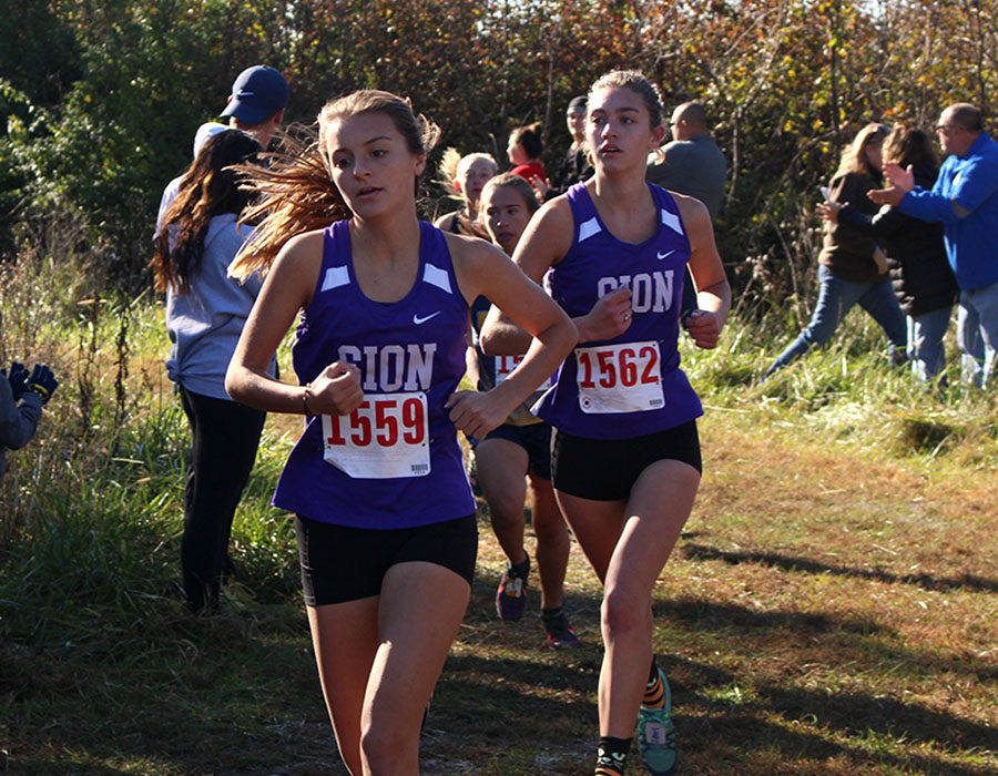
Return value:
[[(731, 162), (719, 244), (743, 308), (809, 294), (816, 186), (869, 121), (989, 115), (995, 0), (2, 0), (0, 249), (72, 218), (115, 284), (141, 286), (163, 184), (234, 75), (265, 62), (309, 123), (359, 86), (413, 99), (444, 145), (502, 160), (510, 127), (637, 68), (666, 110), (699, 99)], [(432, 194), (432, 192), (430, 192)], [(435, 206), (432, 196), (429, 208)]]

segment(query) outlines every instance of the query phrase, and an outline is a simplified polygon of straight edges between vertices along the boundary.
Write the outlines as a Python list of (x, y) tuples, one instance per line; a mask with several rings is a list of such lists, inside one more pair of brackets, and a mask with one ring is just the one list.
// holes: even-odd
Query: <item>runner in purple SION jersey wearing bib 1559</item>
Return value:
[[(406, 101), (355, 92), (318, 124), (314, 146), (255, 176), (265, 218), (234, 272), (268, 272), (226, 389), (306, 416), (275, 501), (297, 511), (339, 752), (355, 776), (413, 776), (475, 566), (456, 430), (485, 436), (501, 423), (577, 334), (497, 248), (418, 221), (414, 182), (439, 131)], [(330, 221), (340, 223), (327, 229)], [(538, 341), (493, 390), (455, 391), (468, 302), (485, 293)], [(299, 310), (302, 385), (292, 386), (266, 365)]]

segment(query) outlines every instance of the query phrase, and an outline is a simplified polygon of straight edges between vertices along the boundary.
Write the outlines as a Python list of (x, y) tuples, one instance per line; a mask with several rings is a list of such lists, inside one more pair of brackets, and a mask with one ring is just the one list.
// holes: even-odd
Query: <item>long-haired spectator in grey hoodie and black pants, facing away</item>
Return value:
[(166, 370), (191, 423), (181, 566), (195, 612), (217, 607), (222, 580), (233, 570), (228, 537), (265, 418), (233, 401), (224, 385), (261, 286), (258, 277), (240, 284), (227, 274), (249, 234), (237, 223), (247, 194), (232, 165), (252, 162), (259, 152), (259, 143), (240, 130), (205, 142), (166, 211), (151, 262), (156, 289), (166, 292), (173, 343)]

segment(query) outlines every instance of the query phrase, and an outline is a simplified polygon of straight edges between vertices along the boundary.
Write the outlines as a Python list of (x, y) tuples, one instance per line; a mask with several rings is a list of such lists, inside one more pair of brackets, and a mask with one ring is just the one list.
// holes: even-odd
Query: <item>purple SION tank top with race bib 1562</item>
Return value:
[(690, 239), (679, 207), (649, 184), (658, 211), (655, 233), (640, 245), (614, 237), (584, 184), (568, 191), (576, 236), (544, 288), (569, 316), (627, 286), (631, 325), (622, 335), (582, 343), (564, 360), (556, 384), (533, 406), (554, 428), (590, 439), (628, 439), (664, 431), (703, 415), (680, 369), (679, 314)]

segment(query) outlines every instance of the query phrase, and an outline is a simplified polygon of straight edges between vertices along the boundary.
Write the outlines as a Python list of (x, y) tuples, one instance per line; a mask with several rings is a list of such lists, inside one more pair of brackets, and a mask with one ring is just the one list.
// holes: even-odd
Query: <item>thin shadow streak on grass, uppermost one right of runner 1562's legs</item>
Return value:
[(852, 569), (829, 565), (811, 558), (782, 555), (774, 552), (727, 552), (703, 544), (686, 544), (680, 548), (683, 558), (701, 561), (724, 561), (732, 565), (739, 563), (760, 563), (782, 571), (806, 571), (812, 574), (833, 574), (855, 579), (885, 582), (888, 584), (913, 584), (924, 590), (946, 592), (950, 590), (977, 590), (986, 593), (998, 593), (998, 580), (989, 580), (975, 574), (961, 574), (956, 578), (934, 576), (933, 574), (893, 574), (886, 571), (869, 569)]

